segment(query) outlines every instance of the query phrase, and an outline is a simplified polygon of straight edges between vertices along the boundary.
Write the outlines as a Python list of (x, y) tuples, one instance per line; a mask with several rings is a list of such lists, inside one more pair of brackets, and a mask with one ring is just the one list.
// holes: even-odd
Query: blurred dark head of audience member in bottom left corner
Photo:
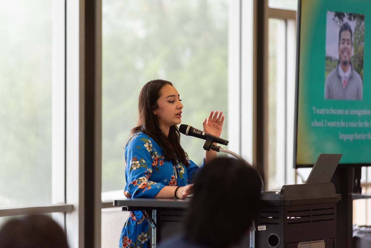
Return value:
[(46, 215), (13, 218), (0, 228), (0, 248), (68, 248), (62, 228)]

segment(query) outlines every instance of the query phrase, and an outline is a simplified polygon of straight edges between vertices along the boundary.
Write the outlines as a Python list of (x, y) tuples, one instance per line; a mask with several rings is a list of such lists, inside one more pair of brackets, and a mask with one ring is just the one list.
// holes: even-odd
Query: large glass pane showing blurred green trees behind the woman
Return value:
[[(201, 129), (210, 110), (228, 114), (228, 4), (104, 0), (102, 12), (102, 191), (108, 192), (125, 186), (123, 147), (137, 122), (138, 95), (147, 81), (175, 84), (183, 99), (183, 124)], [(226, 134), (225, 122), (222, 137)], [(200, 165), (204, 142), (184, 136), (181, 141)]]

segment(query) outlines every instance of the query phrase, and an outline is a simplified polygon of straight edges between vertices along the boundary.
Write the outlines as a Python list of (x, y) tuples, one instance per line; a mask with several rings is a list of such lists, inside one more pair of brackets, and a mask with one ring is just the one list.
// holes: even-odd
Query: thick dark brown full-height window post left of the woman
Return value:
[[(84, 246), (101, 247), (101, 26), (102, 2), (83, 0), (85, 23), (81, 42), (85, 53), (83, 80), (84, 115)], [(92, 51), (92, 52), (89, 52)], [(92, 155), (93, 154), (93, 155)]]

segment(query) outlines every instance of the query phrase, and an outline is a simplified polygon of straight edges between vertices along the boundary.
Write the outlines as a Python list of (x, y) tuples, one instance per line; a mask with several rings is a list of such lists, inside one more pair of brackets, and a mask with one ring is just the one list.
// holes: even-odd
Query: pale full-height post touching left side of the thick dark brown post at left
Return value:
[(66, 235), (71, 248), (84, 248), (84, 55), (83, 0), (66, 1)]

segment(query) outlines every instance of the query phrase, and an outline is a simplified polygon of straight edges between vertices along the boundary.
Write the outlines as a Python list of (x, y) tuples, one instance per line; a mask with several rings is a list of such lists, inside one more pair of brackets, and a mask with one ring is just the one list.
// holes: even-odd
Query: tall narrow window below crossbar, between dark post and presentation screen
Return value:
[(293, 19), (268, 22), (268, 166), (267, 188), (295, 183), (293, 125), (296, 25)]

